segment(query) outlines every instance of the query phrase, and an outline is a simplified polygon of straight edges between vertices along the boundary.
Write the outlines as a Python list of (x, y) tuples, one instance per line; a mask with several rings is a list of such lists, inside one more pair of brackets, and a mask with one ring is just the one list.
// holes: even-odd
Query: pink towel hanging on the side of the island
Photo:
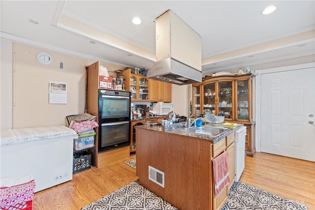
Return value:
[(230, 183), (228, 172), (228, 151), (224, 151), (212, 160), (215, 181), (215, 197)]

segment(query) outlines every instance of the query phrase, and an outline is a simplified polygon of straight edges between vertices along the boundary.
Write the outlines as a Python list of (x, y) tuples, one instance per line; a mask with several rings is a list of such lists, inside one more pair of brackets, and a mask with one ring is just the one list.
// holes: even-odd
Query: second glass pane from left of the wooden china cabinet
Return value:
[(203, 85), (203, 114), (216, 114), (216, 83)]

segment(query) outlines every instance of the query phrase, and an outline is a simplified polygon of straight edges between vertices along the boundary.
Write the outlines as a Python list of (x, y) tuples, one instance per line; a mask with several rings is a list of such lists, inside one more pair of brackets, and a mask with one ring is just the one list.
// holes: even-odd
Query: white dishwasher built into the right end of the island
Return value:
[(235, 131), (235, 181), (239, 181), (245, 168), (246, 127)]

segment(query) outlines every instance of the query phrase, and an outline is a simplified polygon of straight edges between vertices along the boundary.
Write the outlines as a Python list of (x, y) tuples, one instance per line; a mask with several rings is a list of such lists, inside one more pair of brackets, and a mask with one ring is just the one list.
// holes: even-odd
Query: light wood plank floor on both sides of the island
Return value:
[[(137, 180), (124, 162), (129, 148), (100, 153), (99, 167), (73, 175), (73, 180), (35, 193), (33, 210), (80, 210), (82, 207)], [(256, 152), (245, 158), (240, 181), (294, 200), (315, 210), (315, 163)]]

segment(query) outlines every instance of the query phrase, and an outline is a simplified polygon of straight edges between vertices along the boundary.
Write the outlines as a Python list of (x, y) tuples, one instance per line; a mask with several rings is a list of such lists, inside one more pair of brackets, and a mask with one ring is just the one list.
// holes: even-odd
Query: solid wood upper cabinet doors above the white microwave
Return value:
[(172, 84), (150, 79), (150, 101), (172, 102)]

